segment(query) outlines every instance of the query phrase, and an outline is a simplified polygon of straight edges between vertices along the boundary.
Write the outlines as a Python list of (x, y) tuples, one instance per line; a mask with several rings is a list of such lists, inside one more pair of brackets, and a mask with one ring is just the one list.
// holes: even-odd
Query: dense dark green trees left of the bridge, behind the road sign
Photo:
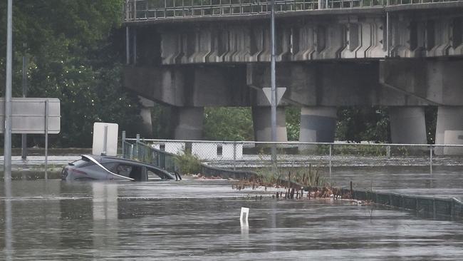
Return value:
[[(27, 55), (28, 97), (61, 101), (61, 133), (51, 145), (90, 146), (94, 121), (119, 123), (120, 130), (135, 135), (140, 120), (137, 97), (121, 84), (122, 4), (122, 0), (14, 1), (13, 96), (21, 96), (21, 60)], [(0, 13), (6, 14), (6, 1), (1, 1)], [(1, 21), (6, 24), (6, 15)], [(0, 34), (6, 35), (5, 30), (1, 26)], [(5, 41), (0, 39), (1, 77)]]

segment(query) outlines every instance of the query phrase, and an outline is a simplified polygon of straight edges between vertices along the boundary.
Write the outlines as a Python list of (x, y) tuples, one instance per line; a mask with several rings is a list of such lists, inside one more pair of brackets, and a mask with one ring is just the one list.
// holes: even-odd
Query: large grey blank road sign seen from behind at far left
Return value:
[[(45, 101), (48, 100), (48, 134), (61, 130), (58, 98), (11, 98), (11, 133), (45, 134)], [(5, 99), (0, 98), (0, 123), (5, 122)], [(1, 124), (0, 133), (4, 132)]]

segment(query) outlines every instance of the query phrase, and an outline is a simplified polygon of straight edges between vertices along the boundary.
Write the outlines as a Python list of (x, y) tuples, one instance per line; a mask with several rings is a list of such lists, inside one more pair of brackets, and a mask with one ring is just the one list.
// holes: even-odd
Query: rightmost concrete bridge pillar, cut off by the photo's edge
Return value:
[[(463, 144), (463, 107), (439, 106), (435, 144)], [(435, 148), (436, 155), (463, 155), (462, 148)]]

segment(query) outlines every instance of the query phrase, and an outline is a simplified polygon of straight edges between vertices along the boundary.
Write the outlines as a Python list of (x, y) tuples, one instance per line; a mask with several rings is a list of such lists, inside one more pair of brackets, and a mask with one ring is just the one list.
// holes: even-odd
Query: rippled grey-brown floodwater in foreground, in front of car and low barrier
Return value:
[[(276, 200), (228, 180), (0, 188), (4, 260), (461, 260), (451, 220), (340, 200)], [(260, 196), (262, 195), (262, 199)], [(239, 222), (250, 208), (249, 224)]]

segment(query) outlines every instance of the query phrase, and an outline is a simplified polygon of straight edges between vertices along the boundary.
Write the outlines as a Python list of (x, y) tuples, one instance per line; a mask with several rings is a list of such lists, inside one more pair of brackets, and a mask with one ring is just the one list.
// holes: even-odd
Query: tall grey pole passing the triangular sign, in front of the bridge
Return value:
[(275, 0), (271, 0), (271, 57), (270, 57), (270, 81), (271, 81), (271, 161), (276, 173), (276, 79), (275, 79)]

